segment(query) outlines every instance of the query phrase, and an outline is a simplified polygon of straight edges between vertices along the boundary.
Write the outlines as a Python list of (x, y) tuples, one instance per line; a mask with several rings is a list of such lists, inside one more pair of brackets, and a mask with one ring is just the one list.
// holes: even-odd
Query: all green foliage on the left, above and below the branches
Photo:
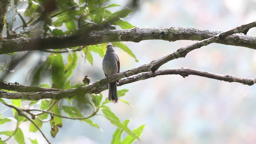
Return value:
[[(24, 9), (24, 7), (26, 8)], [(110, 11), (112, 8), (120, 8), (120, 10), (112, 12)], [(133, 10), (118, 4), (108, 4), (108, 0), (13, 0), (6, 14), (5, 39), (58, 37), (67, 34), (84, 34), (99, 30), (117, 29), (119, 27), (122, 29), (133, 28), (134, 26), (123, 20), (131, 12)], [(112, 44), (127, 52), (138, 62), (136, 56), (125, 44), (121, 42), (113, 42)], [(92, 52), (103, 57), (106, 52), (106, 45), (104, 43), (67, 49), (56, 47), (53, 50), (45, 50), (50, 54), (47, 55), (45, 62), (38, 64), (36, 69), (32, 70), (34, 71), (33, 84), (40, 83), (40, 76), (42, 79), (42, 73), (47, 72), (50, 74), (52, 84), (40, 84), (39, 87), (68, 90), (89, 84), (89, 79), (89, 82), (84, 84), (71, 83), (73, 71), (78, 64), (79, 54), (77, 51), (81, 51), (84, 60), (88, 60), (92, 65)], [(8, 55), (15, 56), (17, 54)], [(121, 97), (121, 102), (131, 106), (129, 102), (122, 99), (126, 92), (128, 92), (126, 89), (119, 90), (118, 96)], [(113, 134), (112, 144), (129, 144), (134, 140), (139, 140), (144, 125), (130, 130), (128, 128), (129, 120), (121, 122), (107, 106), (108, 99), (102, 100), (102, 97), (102, 94), (81, 96), (79, 93), (74, 93), (74, 96), (61, 100), (27, 101), (18, 99), (12, 100), (11, 103), (7, 103), (0, 98), (2, 104), (13, 110), (13, 118), (5, 117), (0, 113), (0, 124), (16, 123), (14, 130), (0, 130), (0, 135), (8, 137), (6, 140), (0, 139), (0, 144), (4, 144), (11, 137), (14, 137), (19, 144), (24, 144), (26, 137), (24, 137), (20, 124), (26, 121), (30, 121), (29, 131), (40, 131), (47, 142), (49, 141), (40, 128), (43, 125), (47, 126), (46, 123), (50, 124), (50, 134), (55, 137), (63, 125), (63, 119), (86, 122), (90, 126), (101, 130), (100, 126), (91, 120), (94, 116), (103, 116), (117, 127)], [(84, 109), (80, 107), (81, 105)], [(86, 115), (88, 112), (90, 115)], [(128, 135), (122, 140), (123, 132)], [(36, 139), (28, 138), (28, 140), (32, 144), (38, 143)]]

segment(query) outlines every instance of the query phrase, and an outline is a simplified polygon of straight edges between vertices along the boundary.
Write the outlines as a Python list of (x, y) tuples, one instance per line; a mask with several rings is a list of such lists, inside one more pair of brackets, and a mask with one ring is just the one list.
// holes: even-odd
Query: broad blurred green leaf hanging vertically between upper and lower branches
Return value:
[(63, 89), (65, 84), (64, 62), (61, 54), (54, 54), (52, 61), (52, 84), (53, 88)]

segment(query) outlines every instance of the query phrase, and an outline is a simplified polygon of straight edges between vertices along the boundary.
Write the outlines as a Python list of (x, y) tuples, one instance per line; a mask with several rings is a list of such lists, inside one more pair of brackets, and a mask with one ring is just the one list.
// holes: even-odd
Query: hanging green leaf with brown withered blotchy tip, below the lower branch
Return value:
[[(58, 114), (61, 115), (60, 110), (58, 108), (58, 102), (53, 106), (52, 108), (52, 112), (54, 114)], [(50, 121), (50, 125), (51, 125), (51, 135), (54, 138), (56, 136), (56, 134), (58, 133), (58, 127), (61, 128), (62, 127), (62, 118), (58, 117), (58, 116), (52, 116), (52, 120)]]

